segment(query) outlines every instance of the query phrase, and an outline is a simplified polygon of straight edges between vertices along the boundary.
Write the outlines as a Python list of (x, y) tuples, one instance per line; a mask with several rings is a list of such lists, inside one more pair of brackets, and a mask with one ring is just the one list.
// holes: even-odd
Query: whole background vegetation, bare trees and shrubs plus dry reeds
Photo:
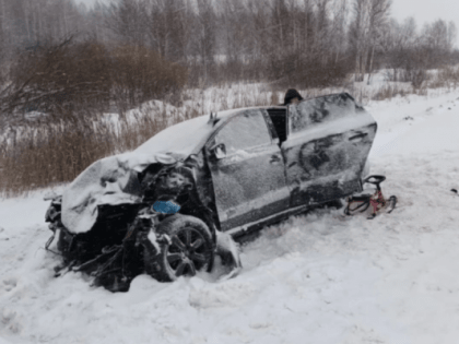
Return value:
[[(456, 86), (454, 22), (417, 27), (413, 17), (391, 17), (391, 4), (119, 0), (87, 9), (73, 0), (0, 0), (0, 190), (70, 181), (94, 161), (202, 115), (196, 104), (179, 116), (166, 110), (184, 107), (192, 90), (243, 83), (271, 92), (220, 107), (231, 108), (282, 103), (278, 93), (290, 87), (370, 84), (381, 70), (413, 93), (425, 94), (428, 82)], [(442, 78), (433, 81), (433, 70)], [(375, 97), (400, 93), (390, 87)], [(153, 99), (161, 110), (126, 116)], [(115, 127), (104, 114), (119, 115)]]

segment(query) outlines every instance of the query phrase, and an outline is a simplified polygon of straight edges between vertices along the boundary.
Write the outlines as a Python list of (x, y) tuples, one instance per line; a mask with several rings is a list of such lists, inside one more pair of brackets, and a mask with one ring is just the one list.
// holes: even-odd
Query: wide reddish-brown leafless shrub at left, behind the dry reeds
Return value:
[(70, 110), (107, 110), (110, 102), (126, 111), (153, 98), (169, 103), (179, 98), (187, 78), (185, 67), (146, 47), (109, 51), (102, 44), (69, 38), (19, 55), (0, 112), (37, 110), (62, 116)]

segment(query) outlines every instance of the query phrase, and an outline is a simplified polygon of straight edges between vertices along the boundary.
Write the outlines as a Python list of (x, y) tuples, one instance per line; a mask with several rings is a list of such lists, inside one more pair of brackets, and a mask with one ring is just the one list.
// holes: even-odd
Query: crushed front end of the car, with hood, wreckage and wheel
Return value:
[(162, 132), (134, 152), (95, 162), (51, 200), (46, 221), (62, 256), (57, 275), (81, 271), (94, 285), (122, 292), (141, 273), (168, 282), (212, 269), (222, 246), (214, 211), (201, 201), (209, 178), (199, 144), (213, 126), (199, 121), (193, 133), (201, 138), (165, 146)]

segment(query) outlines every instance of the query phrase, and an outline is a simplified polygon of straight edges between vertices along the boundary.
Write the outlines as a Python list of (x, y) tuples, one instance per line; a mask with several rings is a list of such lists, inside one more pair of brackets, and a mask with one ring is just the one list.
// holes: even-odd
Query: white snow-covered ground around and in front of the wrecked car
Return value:
[(0, 201), (0, 344), (458, 343), (459, 93), (367, 109), (372, 173), (398, 207), (264, 228), (229, 281), (141, 275), (111, 294), (80, 273), (55, 278), (43, 192)]

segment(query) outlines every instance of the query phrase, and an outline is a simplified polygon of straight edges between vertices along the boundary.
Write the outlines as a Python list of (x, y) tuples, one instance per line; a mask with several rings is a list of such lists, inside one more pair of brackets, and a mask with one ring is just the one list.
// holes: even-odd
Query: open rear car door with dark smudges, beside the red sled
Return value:
[(361, 175), (376, 122), (349, 94), (289, 106), (283, 142), (292, 206), (321, 203), (362, 190)]

